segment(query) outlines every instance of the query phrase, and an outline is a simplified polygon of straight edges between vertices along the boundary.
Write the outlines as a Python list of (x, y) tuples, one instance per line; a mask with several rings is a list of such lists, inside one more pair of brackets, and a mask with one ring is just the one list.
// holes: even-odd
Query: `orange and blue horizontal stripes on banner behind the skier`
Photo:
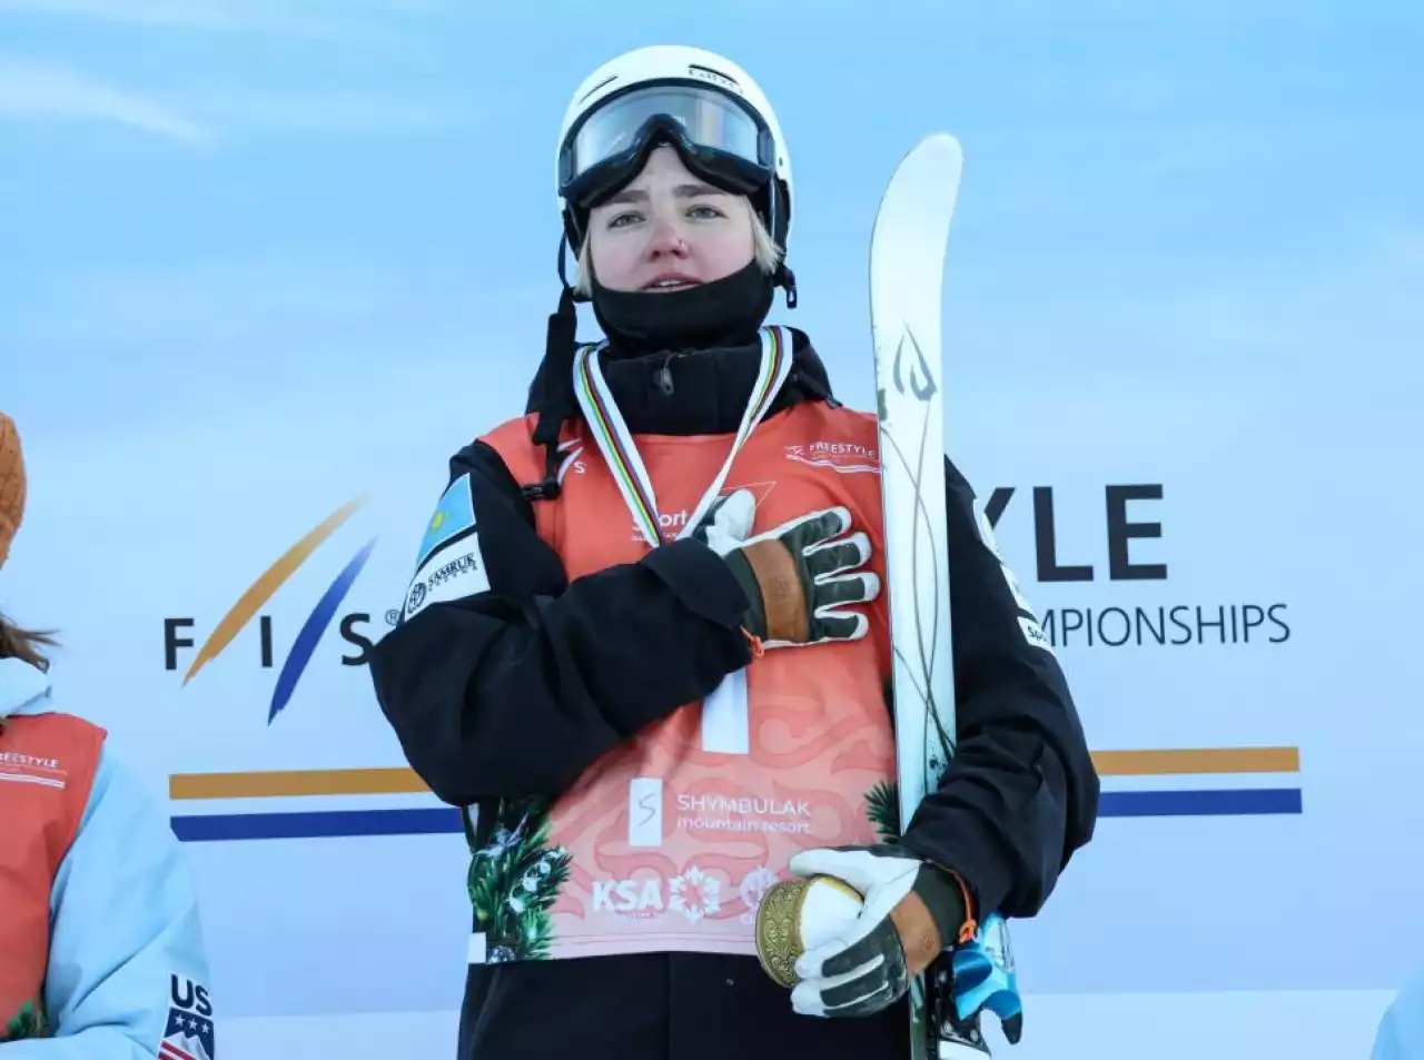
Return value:
[[(1168, 780), (1159, 788), (1104, 791), (1102, 817), (1239, 817), (1299, 814), (1300, 753), (1294, 747), (1168, 748), (1096, 751), (1094, 763), (1105, 780)], [(1216, 787), (1208, 778), (1263, 775), (1267, 787)], [(1279, 778), (1279, 780), (1277, 780)], [(1183, 785), (1183, 781), (1189, 784)], [(390, 797), (409, 801), (430, 790), (409, 768), (286, 770), (276, 773), (181, 773), (168, 778), (172, 802), (261, 802), (312, 798), (323, 805), (342, 797)], [(433, 797), (431, 797), (433, 798)], [(172, 817), (184, 842), (234, 839), (299, 839), (360, 835), (429, 835), (460, 832), (459, 811), (447, 805), (390, 805), (336, 810), (259, 810), (187, 812)]]

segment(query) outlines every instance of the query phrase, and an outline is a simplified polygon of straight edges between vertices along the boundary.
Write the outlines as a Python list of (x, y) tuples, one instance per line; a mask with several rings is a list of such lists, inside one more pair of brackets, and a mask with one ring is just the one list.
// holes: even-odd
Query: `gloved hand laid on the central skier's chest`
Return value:
[(695, 532), (742, 583), (750, 603), (746, 632), (763, 647), (866, 636), (870, 619), (853, 609), (880, 595), (880, 578), (860, 569), (870, 559), (870, 538), (850, 534), (850, 512), (807, 512), (749, 538), (755, 514), (750, 491), (739, 489), (713, 505)]

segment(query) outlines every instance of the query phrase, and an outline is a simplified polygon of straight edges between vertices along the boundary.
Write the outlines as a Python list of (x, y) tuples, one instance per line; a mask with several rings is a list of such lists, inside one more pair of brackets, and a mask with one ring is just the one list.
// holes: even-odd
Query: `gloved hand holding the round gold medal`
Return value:
[(803, 1016), (880, 1012), (947, 946), (974, 935), (960, 879), (901, 847), (817, 848), (795, 855), (789, 868), (840, 879), (864, 899), (849, 928), (797, 959), (792, 1007)]

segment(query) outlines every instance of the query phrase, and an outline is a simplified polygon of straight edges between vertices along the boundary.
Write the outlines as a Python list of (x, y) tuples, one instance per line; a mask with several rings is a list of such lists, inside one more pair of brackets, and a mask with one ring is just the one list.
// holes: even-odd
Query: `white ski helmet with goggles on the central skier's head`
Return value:
[(766, 94), (722, 55), (654, 44), (598, 67), (564, 114), (554, 184), (575, 253), (588, 208), (632, 179), (659, 138), (703, 179), (748, 195), (786, 249), (792, 162)]

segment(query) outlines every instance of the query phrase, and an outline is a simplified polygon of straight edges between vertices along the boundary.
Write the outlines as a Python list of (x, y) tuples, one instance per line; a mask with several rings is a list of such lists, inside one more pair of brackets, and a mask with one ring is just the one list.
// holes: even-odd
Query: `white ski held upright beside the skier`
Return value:
[[(953, 135), (921, 139), (896, 166), (870, 238), (901, 828), (938, 785), (956, 743), (940, 327), (944, 258), (963, 165)], [(937, 960), (911, 985), (913, 1060), (990, 1056), (980, 1033), (984, 1007), (1005, 1020), (1011, 1040), (1018, 1037), (1008, 926), (997, 913), (983, 919), (973, 943)]]

